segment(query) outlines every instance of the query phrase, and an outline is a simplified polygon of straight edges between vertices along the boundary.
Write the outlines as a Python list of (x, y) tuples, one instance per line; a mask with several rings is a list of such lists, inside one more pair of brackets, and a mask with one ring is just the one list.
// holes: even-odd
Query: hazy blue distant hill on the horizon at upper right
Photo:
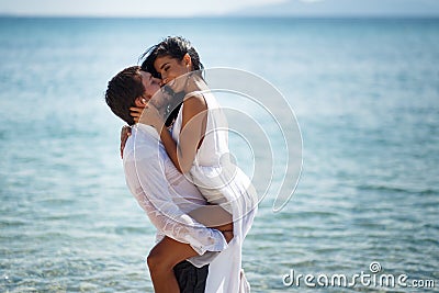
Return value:
[(236, 16), (439, 16), (439, 0), (289, 0)]

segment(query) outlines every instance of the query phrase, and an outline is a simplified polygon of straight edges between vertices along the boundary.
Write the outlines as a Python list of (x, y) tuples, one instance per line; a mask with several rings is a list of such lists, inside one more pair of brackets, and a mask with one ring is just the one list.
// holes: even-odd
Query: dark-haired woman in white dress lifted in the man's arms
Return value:
[[(162, 111), (151, 104), (144, 111), (132, 109), (132, 115), (136, 122), (157, 129), (177, 169), (187, 173), (207, 202), (213, 204), (209, 209), (195, 211), (198, 217), (211, 221), (210, 226), (226, 225), (233, 218), (233, 234), (232, 230), (225, 232), (229, 233), (226, 235), (227, 240), (233, 237), (228, 251), (225, 251), (229, 253), (228, 263), (218, 266), (228, 267), (229, 278), (225, 284), (224, 279), (218, 280), (223, 282), (223, 292), (239, 292), (239, 286), (246, 283), (240, 275), (240, 249), (248, 228), (244, 228), (243, 223), (251, 221), (255, 215), (255, 191), (250, 180), (228, 160), (227, 125), (201, 72), (194, 71), (202, 69), (196, 50), (182, 37), (168, 37), (153, 46), (145, 56), (143, 69), (160, 76), (168, 91), (182, 92), (182, 105), (178, 110), (172, 133), (165, 127), (167, 119), (164, 119)], [(158, 263), (164, 263), (166, 259), (165, 263), (171, 266), (187, 258), (184, 250), (180, 255), (182, 259), (169, 259), (166, 251), (173, 249), (172, 246), (172, 241), (160, 241), (151, 250), (154, 259)], [(173, 281), (169, 283), (172, 279), (169, 273), (171, 268), (156, 264), (148, 262), (156, 292), (178, 292)], [(211, 270), (207, 279), (215, 282), (216, 277), (215, 271)]]

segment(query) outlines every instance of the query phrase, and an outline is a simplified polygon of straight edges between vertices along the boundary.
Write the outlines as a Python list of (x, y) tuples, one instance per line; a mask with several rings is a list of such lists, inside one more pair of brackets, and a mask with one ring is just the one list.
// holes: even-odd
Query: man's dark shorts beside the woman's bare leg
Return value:
[(181, 293), (204, 293), (209, 264), (196, 268), (184, 260), (173, 267), (173, 272), (176, 273)]

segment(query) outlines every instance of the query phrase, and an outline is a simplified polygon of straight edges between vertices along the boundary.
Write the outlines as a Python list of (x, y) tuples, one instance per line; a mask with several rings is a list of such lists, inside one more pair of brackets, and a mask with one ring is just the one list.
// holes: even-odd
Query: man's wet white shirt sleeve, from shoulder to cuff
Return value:
[(149, 221), (160, 233), (189, 244), (199, 255), (224, 250), (227, 243), (221, 232), (206, 228), (175, 204), (158, 146), (156, 149), (137, 144), (135, 151), (124, 154), (126, 183)]

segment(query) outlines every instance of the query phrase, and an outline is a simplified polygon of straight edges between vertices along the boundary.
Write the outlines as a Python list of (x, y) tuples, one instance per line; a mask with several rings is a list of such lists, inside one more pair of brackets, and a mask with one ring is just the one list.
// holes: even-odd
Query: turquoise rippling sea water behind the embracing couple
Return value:
[[(254, 292), (437, 292), (438, 20), (0, 19), (0, 292), (151, 292), (154, 227), (124, 182), (123, 125), (103, 93), (169, 34), (206, 67), (274, 84), (303, 171), (244, 247)], [(236, 156), (245, 156), (237, 154)], [(436, 289), (285, 288), (290, 273), (370, 272)]]

